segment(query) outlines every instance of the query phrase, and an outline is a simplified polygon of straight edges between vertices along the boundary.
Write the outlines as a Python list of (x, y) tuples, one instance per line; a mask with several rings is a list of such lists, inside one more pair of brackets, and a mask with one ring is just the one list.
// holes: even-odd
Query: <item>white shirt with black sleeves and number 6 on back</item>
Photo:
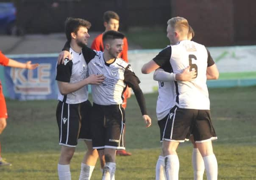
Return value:
[(194, 41), (183, 40), (177, 45), (165, 48), (153, 60), (159, 66), (170, 61), (173, 73), (182, 73), (189, 65), (191, 69), (196, 69), (195, 80), (174, 82), (176, 105), (186, 109), (210, 109), (206, 70), (214, 64), (214, 61), (205, 46)]

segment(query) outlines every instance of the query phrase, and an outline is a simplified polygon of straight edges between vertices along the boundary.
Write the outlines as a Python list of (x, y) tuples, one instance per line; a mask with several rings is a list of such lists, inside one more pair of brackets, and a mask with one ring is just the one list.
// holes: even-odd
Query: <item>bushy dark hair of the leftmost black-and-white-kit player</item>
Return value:
[(72, 18), (68, 17), (65, 21), (65, 34), (67, 37), (67, 40), (71, 41), (71, 33), (75, 32), (75, 34), (78, 32), (80, 27), (86, 27), (87, 29), (90, 29), (91, 23), (89, 21), (86, 21), (84, 19), (80, 18)]

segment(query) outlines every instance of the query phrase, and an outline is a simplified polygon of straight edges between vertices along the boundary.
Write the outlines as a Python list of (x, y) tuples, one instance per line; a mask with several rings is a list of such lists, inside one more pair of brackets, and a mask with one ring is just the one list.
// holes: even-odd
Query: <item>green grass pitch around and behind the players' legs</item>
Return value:
[[(218, 161), (219, 180), (256, 179), (256, 86), (209, 89), (211, 116), (218, 140), (214, 153)], [(126, 147), (130, 157), (117, 157), (117, 180), (154, 180), (155, 164), (160, 152), (159, 128), (155, 108), (157, 94), (146, 94), (153, 125), (145, 128), (135, 97), (126, 110)], [(57, 102), (7, 100), (8, 126), (1, 135), (2, 155), (13, 166), (0, 167), (2, 180), (57, 180), (60, 146), (55, 119)], [(78, 179), (84, 144), (79, 142), (71, 162), (72, 179)], [(180, 180), (192, 180), (192, 145), (185, 142), (177, 150)], [(92, 180), (100, 179), (97, 162)], [(206, 177), (204, 177), (206, 179)]]

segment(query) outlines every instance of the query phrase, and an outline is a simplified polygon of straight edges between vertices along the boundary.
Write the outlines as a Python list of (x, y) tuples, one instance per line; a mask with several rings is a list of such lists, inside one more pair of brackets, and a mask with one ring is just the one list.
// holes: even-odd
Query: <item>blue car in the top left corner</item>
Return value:
[(0, 3), (0, 32), (8, 35), (17, 33), (16, 8), (14, 3)]

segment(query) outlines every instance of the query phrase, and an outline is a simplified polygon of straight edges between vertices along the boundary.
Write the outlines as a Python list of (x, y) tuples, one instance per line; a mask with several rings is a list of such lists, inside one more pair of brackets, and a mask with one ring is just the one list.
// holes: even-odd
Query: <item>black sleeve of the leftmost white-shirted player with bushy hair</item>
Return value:
[(66, 65), (58, 64), (57, 65), (57, 75), (56, 80), (61, 82), (70, 82), (70, 77), (72, 75), (72, 66), (73, 62), (69, 61)]

